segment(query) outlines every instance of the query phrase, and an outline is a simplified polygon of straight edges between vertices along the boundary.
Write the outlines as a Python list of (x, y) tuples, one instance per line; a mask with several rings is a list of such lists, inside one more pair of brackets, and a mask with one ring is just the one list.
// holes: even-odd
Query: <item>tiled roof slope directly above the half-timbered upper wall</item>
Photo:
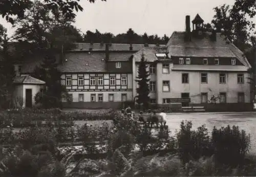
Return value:
[(104, 53), (68, 53), (58, 66), (61, 72), (106, 72)]

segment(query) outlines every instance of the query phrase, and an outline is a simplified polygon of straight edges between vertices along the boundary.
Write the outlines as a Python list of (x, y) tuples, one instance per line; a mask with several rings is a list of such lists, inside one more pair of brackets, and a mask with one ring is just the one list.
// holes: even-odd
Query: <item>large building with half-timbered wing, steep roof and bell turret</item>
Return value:
[[(166, 46), (76, 43), (59, 60), (61, 83), (72, 98), (65, 107), (118, 108), (136, 99), (136, 77), (141, 55), (150, 72), (151, 103), (168, 106), (204, 106), (206, 109), (249, 110), (251, 68), (243, 53), (225, 37), (203, 28), (197, 15), (185, 18), (186, 30), (174, 32)], [(40, 60), (23, 64), (22, 74), (33, 72)], [(216, 104), (209, 104), (218, 98)]]

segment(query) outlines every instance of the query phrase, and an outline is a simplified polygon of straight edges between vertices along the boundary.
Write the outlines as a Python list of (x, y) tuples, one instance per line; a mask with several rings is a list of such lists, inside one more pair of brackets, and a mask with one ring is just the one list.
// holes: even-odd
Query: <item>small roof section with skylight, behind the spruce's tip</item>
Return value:
[(146, 47), (142, 50), (136, 52), (134, 54), (134, 60), (139, 62), (141, 59), (142, 53), (144, 54), (145, 60), (147, 62), (153, 62), (159, 59), (162, 59), (162, 57), (157, 57), (156, 53), (166, 53), (165, 47)]

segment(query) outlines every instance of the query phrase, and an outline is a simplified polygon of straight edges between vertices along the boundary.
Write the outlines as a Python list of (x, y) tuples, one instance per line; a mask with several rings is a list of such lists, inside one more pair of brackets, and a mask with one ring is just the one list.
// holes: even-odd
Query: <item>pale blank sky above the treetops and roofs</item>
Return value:
[[(198, 13), (204, 23), (210, 23), (214, 7), (233, 3), (234, 0), (96, 0), (90, 4), (80, 0), (84, 10), (77, 13), (74, 26), (82, 33), (97, 29), (116, 35), (132, 28), (138, 34), (170, 36), (174, 31), (185, 30), (186, 15), (193, 20)], [(256, 23), (256, 17), (253, 20)], [(8, 29), (9, 36), (13, 34), (14, 29), (2, 17), (0, 24)]]

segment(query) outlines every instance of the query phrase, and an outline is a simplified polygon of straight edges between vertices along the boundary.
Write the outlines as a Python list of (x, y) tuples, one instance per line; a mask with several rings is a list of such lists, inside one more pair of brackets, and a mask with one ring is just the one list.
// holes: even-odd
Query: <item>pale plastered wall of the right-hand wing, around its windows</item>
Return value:
[[(244, 73), (244, 83), (237, 82), (238, 73), (227, 73), (226, 83), (219, 83), (219, 72), (208, 72), (208, 83), (201, 83), (201, 72), (191, 71), (172, 71), (173, 64), (170, 64), (170, 73), (162, 74), (162, 63), (157, 64), (157, 103), (162, 104), (163, 98), (181, 98), (181, 93), (189, 93), (191, 104), (201, 103), (201, 93), (208, 93), (208, 99), (211, 95), (218, 96), (220, 92), (226, 92), (227, 103), (238, 102), (238, 92), (244, 92), (245, 102), (250, 102), (250, 84), (247, 83), (247, 77), (250, 75)], [(182, 73), (188, 73), (188, 83), (182, 83)], [(205, 72), (203, 72), (205, 73)], [(162, 81), (168, 80), (170, 83), (170, 92), (162, 91)]]

